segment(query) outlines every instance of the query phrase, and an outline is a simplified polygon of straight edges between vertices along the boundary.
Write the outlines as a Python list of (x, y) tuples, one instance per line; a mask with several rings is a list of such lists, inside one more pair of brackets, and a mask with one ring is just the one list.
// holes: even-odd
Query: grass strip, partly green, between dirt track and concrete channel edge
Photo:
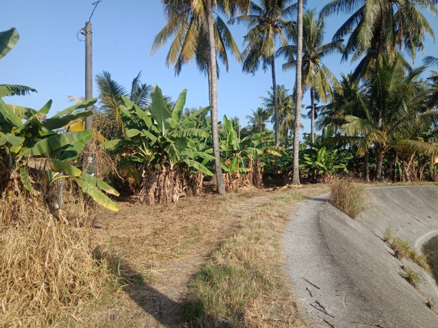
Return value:
[(190, 284), (185, 316), (196, 327), (303, 327), (284, 271), (283, 232), (313, 186), (272, 195), (214, 251)]

